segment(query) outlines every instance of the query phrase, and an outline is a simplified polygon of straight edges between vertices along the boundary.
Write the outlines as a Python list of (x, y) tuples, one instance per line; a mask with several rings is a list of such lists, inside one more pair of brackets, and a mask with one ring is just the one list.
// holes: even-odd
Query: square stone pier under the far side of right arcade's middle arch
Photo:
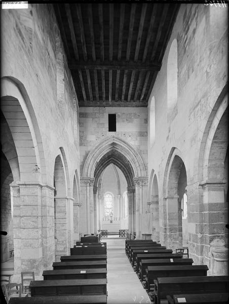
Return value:
[(167, 247), (182, 247), (178, 234), (178, 196), (166, 197)]

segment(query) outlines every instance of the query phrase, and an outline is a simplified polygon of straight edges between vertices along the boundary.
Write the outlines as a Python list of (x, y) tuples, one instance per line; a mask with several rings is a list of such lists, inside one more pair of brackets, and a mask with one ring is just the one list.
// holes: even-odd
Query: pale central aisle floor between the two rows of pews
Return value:
[(125, 253), (125, 239), (102, 239), (107, 243), (107, 304), (150, 304)]

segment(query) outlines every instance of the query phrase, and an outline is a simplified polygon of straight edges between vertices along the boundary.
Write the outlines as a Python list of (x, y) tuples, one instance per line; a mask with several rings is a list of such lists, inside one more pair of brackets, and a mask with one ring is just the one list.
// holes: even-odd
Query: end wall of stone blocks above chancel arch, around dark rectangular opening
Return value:
[[(116, 132), (108, 132), (108, 113), (116, 114)], [(81, 166), (89, 151), (110, 136), (120, 137), (133, 145), (147, 166), (147, 108), (81, 107)]]

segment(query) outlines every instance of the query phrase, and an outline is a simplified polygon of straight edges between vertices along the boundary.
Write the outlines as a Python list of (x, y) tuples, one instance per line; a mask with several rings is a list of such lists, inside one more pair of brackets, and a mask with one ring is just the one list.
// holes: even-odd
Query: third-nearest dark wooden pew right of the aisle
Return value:
[[(146, 268), (146, 290), (151, 291), (154, 280), (164, 277), (203, 277), (207, 276), (207, 265), (172, 265), (172, 266), (148, 266)], [(154, 287), (152, 288), (154, 290)]]

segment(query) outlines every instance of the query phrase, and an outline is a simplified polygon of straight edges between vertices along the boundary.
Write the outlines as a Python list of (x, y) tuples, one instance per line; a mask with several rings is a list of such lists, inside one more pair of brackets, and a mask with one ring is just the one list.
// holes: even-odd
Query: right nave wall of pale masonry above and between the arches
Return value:
[[(175, 110), (171, 117), (168, 111), (171, 92), (167, 91), (167, 62), (174, 40), (177, 41), (178, 85)], [(219, 210), (222, 205), (221, 194), (218, 191), (217, 195), (213, 189), (211, 191), (214, 192), (214, 199), (213, 196), (209, 196), (209, 192), (205, 192), (203, 201), (203, 163), (201, 164), (200, 155), (206, 126), (211, 123), (210, 116), (214, 114), (212, 110), (215, 104), (227, 103), (227, 98), (222, 95), (227, 82), (227, 51), (226, 9), (203, 4), (182, 4), (163, 58), (162, 68), (151, 93), (151, 98), (155, 98), (156, 137), (152, 145), (148, 142), (148, 172), (150, 175), (150, 172), (155, 170), (158, 178), (160, 238), (163, 243), (168, 244), (166, 181), (174, 176), (169, 176), (170, 168), (166, 173), (166, 166), (171, 151), (176, 149), (184, 163), (187, 176), (190, 256), (194, 258), (195, 263), (207, 263), (209, 268), (210, 247), (224, 246), (226, 240), (223, 238), (224, 223), (221, 219), (217, 217), (210, 220), (207, 215), (209, 212), (212, 212), (212, 215), (219, 214), (222, 209), (224, 213), (227, 206), (223, 204), (224, 207)], [(174, 87), (173, 90), (175, 89)], [(219, 120), (220, 118), (216, 126)], [(227, 143), (218, 142), (218, 149), (222, 150), (223, 145)], [(224, 153), (224, 150), (222, 151)], [(215, 154), (214, 159), (217, 158), (220, 156)], [(217, 169), (211, 172), (211, 180), (215, 179), (216, 182)], [(176, 186), (174, 184), (174, 187)], [(216, 184), (212, 186), (215, 187)], [(175, 200), (177, 199), (176, 197)], [(209, 203), (212, 203), (211, 209), (208, 208)]]

